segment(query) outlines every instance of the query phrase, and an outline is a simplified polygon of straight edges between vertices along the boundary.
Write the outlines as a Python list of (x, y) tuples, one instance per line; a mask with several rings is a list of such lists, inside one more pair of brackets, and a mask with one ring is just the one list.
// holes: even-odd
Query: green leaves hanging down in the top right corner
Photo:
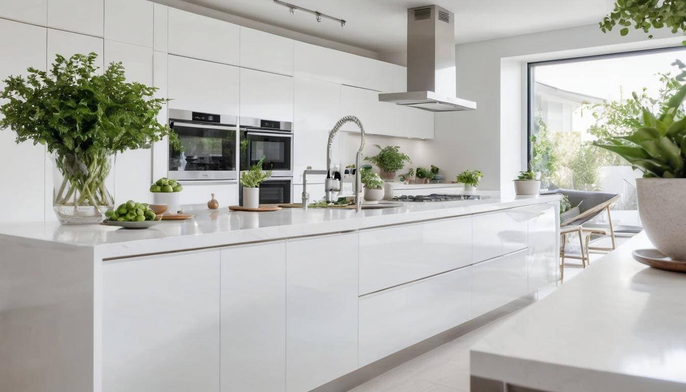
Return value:
[[(672, 33), (686, 32), (686, 1), (683, 0), (616, 0), (613, 12), (600, 22), (600, 30), (608, 32), (619, 25), (619, 34), (629, 34), (629, 27), (643, 30), (649, 34), (650, 29), (667, 27)], [(686, 42), (686, 41), (685, 41)]]

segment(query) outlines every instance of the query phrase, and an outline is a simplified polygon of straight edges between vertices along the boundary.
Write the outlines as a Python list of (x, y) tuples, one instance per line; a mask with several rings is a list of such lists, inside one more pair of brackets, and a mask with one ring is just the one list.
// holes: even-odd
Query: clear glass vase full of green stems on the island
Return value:
[(115, 154), (108, 151), (52, 154), (52, 205), (60, 223), (99, 223), (115, 205)]

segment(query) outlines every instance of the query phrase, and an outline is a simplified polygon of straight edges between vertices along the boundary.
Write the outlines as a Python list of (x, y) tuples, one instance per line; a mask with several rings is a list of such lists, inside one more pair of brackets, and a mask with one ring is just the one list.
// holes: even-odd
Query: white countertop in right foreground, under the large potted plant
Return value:
[(471, 351), (471, 374), (544, 391), (685, 391), (686, 274), (639, 264), (644, 233)]

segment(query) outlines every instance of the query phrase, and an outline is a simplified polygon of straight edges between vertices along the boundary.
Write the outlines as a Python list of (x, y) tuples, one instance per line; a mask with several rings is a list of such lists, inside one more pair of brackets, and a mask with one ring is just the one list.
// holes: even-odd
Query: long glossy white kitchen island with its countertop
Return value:
[(1, 225), (0, 391), (309, 391), (556, 281), (558, 203)]

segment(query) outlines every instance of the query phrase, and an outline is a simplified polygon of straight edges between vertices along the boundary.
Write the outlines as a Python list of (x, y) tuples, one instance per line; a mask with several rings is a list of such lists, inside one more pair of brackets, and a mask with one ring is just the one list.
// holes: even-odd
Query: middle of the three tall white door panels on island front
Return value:
[(222, 391), (283, 392), (286, 242), (222, 249)]

